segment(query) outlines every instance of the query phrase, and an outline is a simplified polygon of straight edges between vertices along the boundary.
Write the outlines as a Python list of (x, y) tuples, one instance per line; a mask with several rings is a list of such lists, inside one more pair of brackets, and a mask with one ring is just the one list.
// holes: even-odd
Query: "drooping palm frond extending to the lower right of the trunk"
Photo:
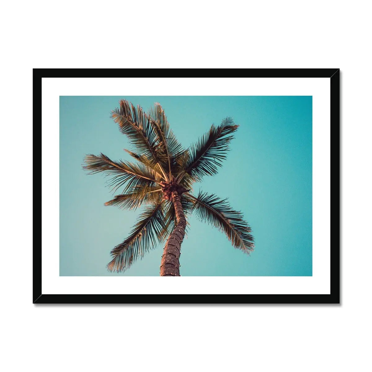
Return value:
[(239, 248), (246, 253), (253, 251), (254, 239), (251, 234), (251, 228), (243, 219), (243, 214), (231, 208), (227, 199), (221, 199), (218, 196), (206, 192), (199, 192), (197, 198), (190, 194), (193, 206), (191, 213), (195, 212), (196, 217), (201, 221), (208, 222), (220, 231), (223, 231), (228, 240), (235, 248)]

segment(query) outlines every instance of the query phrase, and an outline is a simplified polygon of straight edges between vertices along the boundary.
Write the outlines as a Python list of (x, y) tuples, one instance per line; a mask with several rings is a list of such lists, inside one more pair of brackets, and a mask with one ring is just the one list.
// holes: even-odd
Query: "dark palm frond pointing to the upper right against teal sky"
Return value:
[(185, 170), (177, 177), (179, 180), (185, 174), (189, 174), (196, 181), (201, 181), (205, 175), (216, 174), (217, 167), (222, 165), (229, 150), (229, 143), (234, 136), (229, 134), (235, 132), (238, 125), (234, 124), (232, 118), (224, 119), (219, 126), (212, 125), (209, 132), (190, 147), (190, 157)]

